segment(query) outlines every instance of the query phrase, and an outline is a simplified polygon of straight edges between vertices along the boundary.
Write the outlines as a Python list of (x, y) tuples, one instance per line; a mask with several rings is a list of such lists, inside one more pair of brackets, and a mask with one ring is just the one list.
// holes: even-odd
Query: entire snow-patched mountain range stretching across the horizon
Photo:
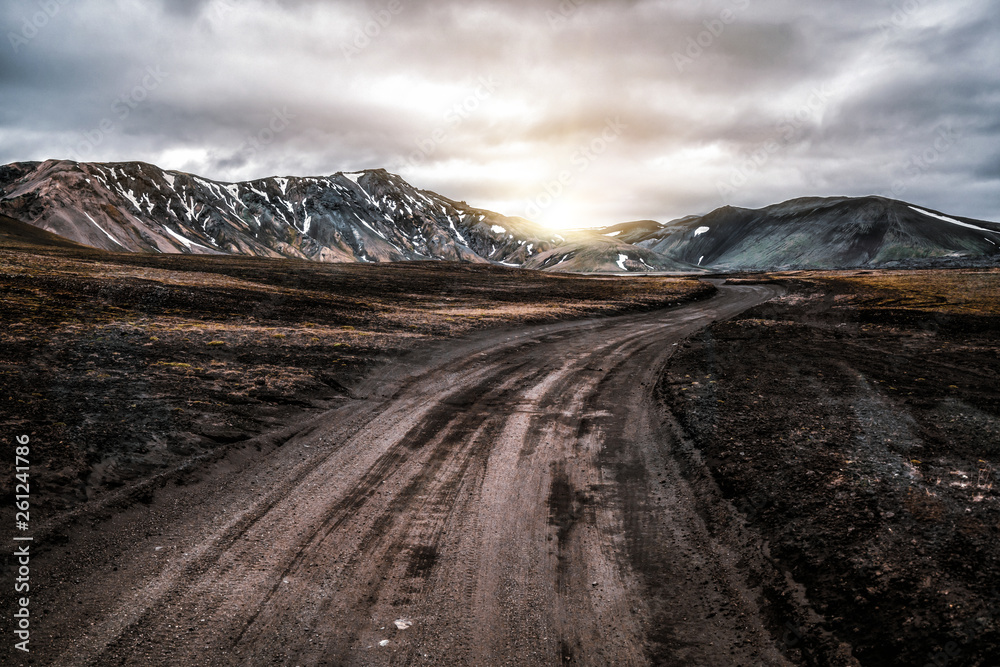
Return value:
[(223, 183), (143, 162), (16, 162), (0, 167), (0, 214), (109, 251), (322, 262), (694, 273), (1000, 259), (1000, 224), (884, 197), (724, 206), (667, 223), (555, 232), (417, 189), (383, 169)]

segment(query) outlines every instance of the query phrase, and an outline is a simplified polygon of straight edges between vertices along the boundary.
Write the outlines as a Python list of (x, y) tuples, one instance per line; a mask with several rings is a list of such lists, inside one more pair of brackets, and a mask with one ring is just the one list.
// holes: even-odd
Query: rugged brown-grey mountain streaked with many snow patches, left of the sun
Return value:
[(104, 250), (521, 266), (562, 237), (381, 169), (221, 183), (142, 162), (0, 167), (0, 213)]

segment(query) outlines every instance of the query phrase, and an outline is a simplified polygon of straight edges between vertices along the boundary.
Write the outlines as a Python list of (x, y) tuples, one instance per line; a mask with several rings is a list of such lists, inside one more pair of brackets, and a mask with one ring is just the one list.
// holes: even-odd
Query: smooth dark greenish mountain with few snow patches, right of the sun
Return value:
[(716, 271), (917, 266), (1000, 259), (1000, 224), (884, 197), (809, 197), (762, 209), (725, 206), (667, 224), (600, 230)]

